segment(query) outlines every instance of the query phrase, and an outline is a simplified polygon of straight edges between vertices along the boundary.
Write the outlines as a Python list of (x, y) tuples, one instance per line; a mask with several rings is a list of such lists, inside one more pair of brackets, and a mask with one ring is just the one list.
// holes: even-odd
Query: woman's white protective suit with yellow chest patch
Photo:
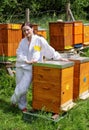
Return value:
[(32, 81), (32, 65), (25, 61), (31, 61), (32, 59), (42, 61), (43, 56), (54, 60), (60, 60), (61, 58), (61, 55), (43, 37), (33, 35), (30, 45), (27, 43), (27, 38), (23, 38), (16, 51), (16, 88), (11, 97), (11, 102), (18, 103), (21, 110), (27, 106), (26, 94)]

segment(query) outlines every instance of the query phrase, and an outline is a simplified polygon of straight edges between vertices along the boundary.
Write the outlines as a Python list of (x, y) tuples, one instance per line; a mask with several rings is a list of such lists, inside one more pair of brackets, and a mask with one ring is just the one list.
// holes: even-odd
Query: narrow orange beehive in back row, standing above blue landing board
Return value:
[(82, 21), (73, 22), (73, 44), (83, 43), (83, 23)]

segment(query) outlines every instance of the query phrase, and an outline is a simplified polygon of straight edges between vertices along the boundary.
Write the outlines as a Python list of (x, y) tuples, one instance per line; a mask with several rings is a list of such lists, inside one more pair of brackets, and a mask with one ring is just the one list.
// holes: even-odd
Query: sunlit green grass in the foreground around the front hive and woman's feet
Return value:
[[(65, 116), (60, 115), (59, 122), (43, 118), (33, 118), (29, 122), (23, 119), (22, 112), (10, 104), (15, 88), (15, 77), (0, 68), (0, 130), (89, 130), (89, 99), (77, 100), (76, 106)], [(32, 86), (28, 92), (28, 108), (32, 104)], [(42, 113), (46, 117), (51, 113)], [(61, 118), (62, 117), (62, 118)]]

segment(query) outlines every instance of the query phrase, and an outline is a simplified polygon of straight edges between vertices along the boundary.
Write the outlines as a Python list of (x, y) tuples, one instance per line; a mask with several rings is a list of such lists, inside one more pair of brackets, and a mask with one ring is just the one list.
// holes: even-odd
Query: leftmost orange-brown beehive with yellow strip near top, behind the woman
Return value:
[(0, 55), (16, 56), (21, 38), (21, 24), (0, 24)]

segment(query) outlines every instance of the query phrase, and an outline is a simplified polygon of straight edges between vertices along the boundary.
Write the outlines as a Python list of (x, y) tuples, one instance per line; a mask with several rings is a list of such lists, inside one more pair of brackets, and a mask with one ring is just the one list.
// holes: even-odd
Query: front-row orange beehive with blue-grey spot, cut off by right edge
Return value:
[(72, 58), (74, 65), (73, 99), (89, 97), (89, 58)]

